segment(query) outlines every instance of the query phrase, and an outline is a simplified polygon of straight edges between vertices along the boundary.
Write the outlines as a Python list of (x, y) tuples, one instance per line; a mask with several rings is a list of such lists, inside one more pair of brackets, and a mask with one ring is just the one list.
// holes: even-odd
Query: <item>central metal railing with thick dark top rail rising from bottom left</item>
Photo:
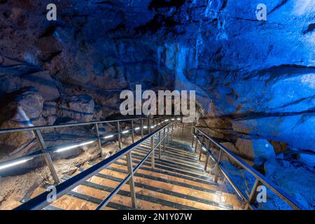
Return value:
[[(102, 171), (102, 169), (106, 169), (106, 167), (109, 167), (113, 162), (116, 162), (116, 160), (119, 160), (120, 158), (123, 158), (123, 156), (126, 155), (127, 159), (127, 169), (128, 174), (121, 181), (118, 186), (98, 205), (96, 208), (97, 210), (102, 209), (106, 207), (106, 204), (110, 202), (110, 200), (118, 193), (118, 191), (123, 187), (127, 181), (129, 181), (130, 184), (130, 197), (132, 198), (132, 206), (134, 208), (137, 208), (137, 198), (134, 190), (134, 173), (137, 172), (139, 167), (144, 164), (146, 159), (151, 156), (151, 166), (154, 168), (154, 156), (155, 156), (155, 149), (159, 147), (159, 151), (161, 151), (162, 143), (164, 144), (164, 150), (165, 150), (165, 139), (168, 137), (170, 132), (170, 125), (169, 123), (162, 125), (162, 127), (158, 128), (158, 130), (155, 130), (151, 134), (148, 134), (146, 137), (140, 139), (137, 142), (134, 142), (130, 146), (127, 146), (121, 151), (118, 151), (114, 155), (112, 155), (109, 158), (106, 158), (102, 160), (101, 162), (97, 163), (96, 165), (90, 167), (89, 169), (85, 169), (83, 172), (80, 172), (76, 176), (73, 176), (71, 179), (68, 179), (62, 183), (59, 183), (56, 186), (56, 198), (62, 197), (62, 195), (65, 195), (69, 191), (71, 191), (73, 188), (76, 188), (76, 186), (79, 186), (87, 179), (90, 179), (95, 174), (98, 174)], [(166, 131), (167, 130), (167, 131)], [(163, 133), (163, 136), (162, 134)], [(158, 137), (158, 143), (154, 144), (155, 137)], [(148, 153), (144, 156), (144, 158), (137, 164), (135, 168), (132, 166), (132, 150), (134, 148), (137, 148), (140, 144), (143, 144), (144, 141), (147, 141), (148, 139), (151, 139), (151, 150), (148, 151)], [(161, 153), (159, 153), (161, 154)], [(20, 205), (20, 207), (15, 208), (15, 210), (34, 210), (34, 209), (43, 209), (44, 207), (48, 206), (50, 202), (48, 202), (49, 192), (42, 193), (41, 195), (38, 195), (37, 197), (34, 197), (34, 199), (29, 200), (28, 202), (25, 202), (24, 204)]]

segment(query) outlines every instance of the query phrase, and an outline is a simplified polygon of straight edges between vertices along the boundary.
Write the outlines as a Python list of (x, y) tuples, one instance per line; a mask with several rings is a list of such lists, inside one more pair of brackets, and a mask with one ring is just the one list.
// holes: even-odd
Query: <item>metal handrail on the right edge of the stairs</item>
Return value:
[[(204, 144), (204, 141), (202, 139), (202, 141), (200, 141), (199, 138), (199, 133), (202, 135), (202, 138), (204, 139), (204, 137), (206, 137), (207, 139), (209, 139), (209, 141), (211, 141), (214, 145), (216, 145), (218, 148), (220, 148), (220, 153), (219, 153), (219, 157), (216, 158), (214, 156), (214, 154), (211, 152), (209, 146), (206, 146)], [(253, 169), (253, 167), (251, 167), (250, 165), (248, 165), (246, 162), (244, 162), (243, 160), (241, 160), (239, 157), (237, 157), (237, 155), (235, 155), (234, 153), (232, 153), (232, 151), (230, 151), (228, 148), (225, 148), (225, 146), (221, 145), (220, 143), (218, 143), (216, 140), (214, 140), (213, 138), (209, 137), (209, 135), (207, 133), (205, 133), (204, 131), (200, 130), (200, 128), (193, 126), (193, 134), (196, 137), (197, 141), (200, 141), (201, 147), (204, 147), (207, 149), (207, 156), (209, 155), (211, 157), (211, 159), (214, 160), (214, 162), (216, 162), (217, 168), (221, 170), (221, 172), (223, 173), (223, 175), (228, 179), (228, 181), (230, 182), (230, 184), (232, 185), (233, 188), (235, 188), (235, 190), (237, 191), (237, 193), (243, 198), (243, 200), (246, 202), (246, 209), (251, 208), (251, 209), (255, 209), (252, 206), (252, 203), (255, 201), (255, 193), (257, 190), (257, 187), (260, 184), (263, 184), (265, 186), (267, 186), (267, 188), (269, 188), (270, 190), (272, 190), (272, 192), (274, 192), (276, 195), (278, 195), (279, 197), (281, 197), (282, 200), (284, 200), (287, 204), (290, 205), (290, 207), (293, 207), (293, 209), (296, 210), (300, 210), (300, 209), (304, 209), (302, 207), (302, 205), (300, 203), (298, 203), (297, 201), (295, 201), (292, 197), (290, 197), (287, 193), (285, 193), (283, 190), (281, 190), (281, 188), (279, 188), (279, 186), (276, 186), (275, 183), (273, 183), (272, 181), (270, 181), (269, 179), (267, 179), (265, 176), (263, 176), (262, 174), (260, 174), (257, 170)], [(194, 139), (194, 138), (193, 138)], [(194, 140), (193, 140), (194, 141)], [(195, 150), (197, 151), (197, 141), (196, 141), (196, 148)], [(201, 153), (201, 149), (200, 149), (200, 153)], [(223, 156), (223, 153), (226, 153), (228, 155), (229, 158), (231, 158), (232, 160), (234, 160), (237, 165), (239, 165), (240, 167), (244, 168), (247, 172), (249, 172), (250, 174), (252, 174), (255, 177), (255, 183), (254, 186), (251, 190), (251, 194), (249, 195), (249, 197), (246, 196), (246, 194), (244, 194), (237, 186), (236, 184), (232, 181), (232, 178), (230, 177), (230, 175), (228, 174), (228, 172), (226, 172), (225, 168), (223, 167), (223, 164), (221, 162), (221, 158)], [(205, 169), (207, 169), (207, 164)], [(218, 179), (218, 173), (216, 173), (216, 181)]]

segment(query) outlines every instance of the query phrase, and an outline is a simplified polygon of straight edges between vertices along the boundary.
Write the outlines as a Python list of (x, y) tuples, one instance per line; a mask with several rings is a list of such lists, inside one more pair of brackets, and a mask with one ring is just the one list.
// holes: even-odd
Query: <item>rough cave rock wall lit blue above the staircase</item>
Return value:
[(222, 139), (315, 151), (311, 0), (265, 0), (267, 21), (250, 0), (68, 0), (57, 21), (45, 19), (48, 3), (0, 2), (1, 98), (35, 87), (36, 125), (104, 119), (120, 90), (142, 84), (197, 90)]

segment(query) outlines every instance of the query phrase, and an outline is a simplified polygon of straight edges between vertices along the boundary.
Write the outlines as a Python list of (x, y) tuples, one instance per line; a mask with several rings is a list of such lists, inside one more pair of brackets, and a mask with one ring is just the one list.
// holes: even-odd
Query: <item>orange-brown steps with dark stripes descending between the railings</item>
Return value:
[[(237, 196), (228, 193), (225, 182), (214, 182), (211, 171), (204, 171), (199, 153), (191, 147), (193, 135), (191, 130), (174, 130), (169, 144), (162, 148), (162, 156), (155, 151), (155, 167), (151, 167), (151, 158), (134, 174), (134, 186), (137, 209), (241, 209)], [(158, 140), (158, 139), (157, 139)], [(135, 167), (150, 151), (148, 139), (132, 151), (132, 165)], [(100, 162), (93, 160), (72, 174), (83, 172)], [(87, 179), (45, 209), (95, 209), (118, 184), (127, 176), (126, 157), (116, 160), (102, 172)], [(71, 176), (63, 176), (63, 181)], [(32, 197), (45, 191), (36, 190)], [(125, 184), (104, 209), (134, 209), (130, 197), (130, 185)]]

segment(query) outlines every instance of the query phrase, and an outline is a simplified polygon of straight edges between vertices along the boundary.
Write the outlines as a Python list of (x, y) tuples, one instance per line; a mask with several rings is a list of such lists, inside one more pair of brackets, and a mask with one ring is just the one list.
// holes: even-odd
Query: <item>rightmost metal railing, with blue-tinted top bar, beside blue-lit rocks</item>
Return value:
[[(228, 148), (225, 148), (223, 145), (219, 144), (216, 140), (209, 137), (207, 133), (202, 131), (200, 127), (192, 127), (192, 133), (193, 133), (193, 143), (192, 147), (194, 145), (194, 139), (195, 141), (195, 152), (197, 152), (198, 142), (200, 142), (200, 156), (202, 154), (202, 149), (207, 154), (206, 158), (206, 165), (204, 169), (207, 170), (207, 165), (209, 161), (209, 157), (214, 160), (216, 163), (216, 176), (214, 181), (218, 181), (218, 172), (221, 171), (222, 174), (225, 176), (226, 179), (228, 179), (229, 183), (232, 185), (232, 187), (235, 189), (237, 194), (246, 202), (245, 209), (255, 209), (253, 207), (253, 202), (255, 202), (255, 198), (257, 196), (257, 188), (258, 186), (264, 185), (270, 190), (272, 190), (277, 196), (279, 196), (284, 202), (290, 205), (293, 209), (300, 210), (303, 209), (302, 205), (300, 205), (298, 202), (296, 202), (292, 197), (290, 197), (288, 194), (283, 192), (279, 186), (276, 186), (275, 183), (272, 183), (272, 181), (269, 181), (265, 176), (260, 174), (258, 171), (253, 169), (253, 167), (249, 166), (246, 162), (241, 160), (237, 157), (234, 153), (232, 153)], [(206, 143), (205, 139), (208, 139), (208, 143)], [(211, 151), (211, 149), (218, 148), (219, 154), (218, 158), (214, 155), (214, 151)], [(228, 155), (228, 158), (232, 159), (234, 162), (237, 163), (240, 167), (246, 170), (246, 172), (249, 172), (251, 175), (255, 177), (255, 183), (253, 184), (253, 188), (251, 189), (251, 193), (249, 197), (240, 189), (237, 187), (237, 185), (232, 181), (232, 176), (228, 174), (228, 171), (223, 167), (222, 158), (223, 155)]]

